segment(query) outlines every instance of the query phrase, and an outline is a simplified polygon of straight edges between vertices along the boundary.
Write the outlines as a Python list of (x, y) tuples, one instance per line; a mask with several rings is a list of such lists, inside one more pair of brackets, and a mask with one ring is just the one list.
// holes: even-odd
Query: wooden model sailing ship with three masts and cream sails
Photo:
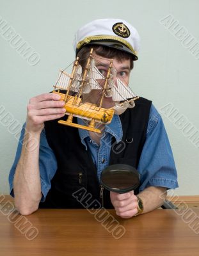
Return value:
[[(66, 121), (59, 120), (58, 123), (88, 131), (101, 132), (100, 129), (95, 127), (97, 124), (109, 124), (115, 112), (123, 113), (127, 108), (134, 108), (134, 100), (139, 97), (134, 95), (131, 88), (116, 77), (113, 60), (110, 61), (106, 77), (104, 77), (95, 65), (92, 52), (93, 49), (90, 51), (84, 70), (77, 57), (73, 63), (71, 74), (68, 74), (65, 70), (60, 71), (58, 81), (53, 86), (53, 93), (61, 95), (61, 100), (65, 101), (65, 114), (68, 115)], [(84, 100), (85, 95), (89, 95), (92, 90), (100, 90), (100, 100), (96, 104)], [(105, 97), (111, 98), (115, 106), (104, 108), (102, 105)], [(74, 116), (87, 120), (87, 124), (74, 123)]]

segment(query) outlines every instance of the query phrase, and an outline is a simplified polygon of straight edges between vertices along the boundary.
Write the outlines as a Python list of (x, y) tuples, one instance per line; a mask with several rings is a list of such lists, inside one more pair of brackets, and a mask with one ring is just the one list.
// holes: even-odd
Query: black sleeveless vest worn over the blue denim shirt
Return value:
[[(120, 143), (112, 141), (109, 164), (123, 163), (138, 168), (139, 157), (146, 139), (151, 104), (150, 100), (139, 98), (134, 108), (127, 109), (120, 115), (123, 138)], [(74, 118), (74, 122), (77, 122), (77, 118)], [(52, 120), (45, 122), (45, 134), (49, 147), (56, 156), (58, 170), (51, 180), (51, 189), (45, 202), (40, 203), (39, 207), (84, 208), (72, 196), (72, 193), (81, 188), (85, 188), (87, 193), (92, 195), (91, 202), (94, 199), (101, 202), (97, 169), (89, 149), (86, 150), (81, 143), (78, 129), (58, 124), (58, 120)], [(138, 194), (138, 190), (139, 188), (134, 193)], [(106, 189), (104, 189), (103, 201), (105, 208), (113, 208), (109, 191)]]

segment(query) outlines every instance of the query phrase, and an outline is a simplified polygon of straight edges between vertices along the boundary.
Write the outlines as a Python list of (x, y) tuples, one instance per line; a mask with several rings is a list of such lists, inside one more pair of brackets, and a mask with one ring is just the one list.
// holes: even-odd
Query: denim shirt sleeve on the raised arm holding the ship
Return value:
[[(19, 162), (21, 150), (22, 150), (22, 143), (24, 139), (25, 133), (25, 126), (23, 125), (22, 131), (20, 133), (19, 144), (17, 147), (17, 152), (15, 156), (14, 163), (10, 170), (9, 174), (9, 184), (10, 184), (10, 195), (14, 196), (13, 193), (13, 178), (15, 175), (15, 170), (17, 167), (17, 163)], [(57, 170), (57, 161), (56, 157), (54, 156), (54, 152), (49, 147), (47, 143), (47, 139), (45, 136), (45, 131), (43, 130), (40, 135), (40, 150), (39, 150), (39, 168), (40, 168), (40, 180), (41, 180), (41, 187), (42, 187), (42, 198), (41, 202), (45, 201), (45, 197), (51, 188), (51, 179), (56, 173)]]

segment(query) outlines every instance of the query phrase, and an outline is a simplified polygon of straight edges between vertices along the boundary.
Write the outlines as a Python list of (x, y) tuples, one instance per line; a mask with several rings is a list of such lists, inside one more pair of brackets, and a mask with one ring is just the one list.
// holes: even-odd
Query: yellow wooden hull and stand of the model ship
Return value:
[[(64, 93), (55, 91), (53, 93), (58, 93), (61, 96), (60, 100), (65, 100)], [(100, 108), (88, 102), (83, 103), (81, 98), (71, 95), (68, 95), (63, 108), (66, 109), (66, 115), (68, 115), (68, 118), (67, 121), (58, 121), (59, 124), (69, 125), (93, 132), (101, 132), (100, 129), (95, 128), (95, 122), (99, 122), (100, 124), (109, 124), (115, 113), (114, 109)], [(88, 123), (88, 126), (75, 124), (72, 122), (73, 116), (90, 120), (90, 122)]]

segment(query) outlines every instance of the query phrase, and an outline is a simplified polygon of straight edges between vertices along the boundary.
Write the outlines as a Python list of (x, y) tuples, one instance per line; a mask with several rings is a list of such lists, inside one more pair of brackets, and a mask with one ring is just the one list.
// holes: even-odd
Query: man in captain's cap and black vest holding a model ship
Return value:
[[(125, 20), (94, 20), (77, 31), (74, 48), (83, 67), (93, 48), (95, 60), (100, 60), (97, 68), (104, 76), (107, 63), (113, 59), (116, 76), (128, 86), (133, 61), (138, 60), (139, 35)], [(97, 104), (99, 91), (92, 90), (84, 100)], [(104, 97), (103, 104), (108, 108), (113, 101)], [(163, 204), (166, 190), (177, 188), (177, 172), (163, 120), (150, 100), (140, 98), (134, 108), (114, 115), (111, 124), (100, 126), (101, 136), (58, 124), (57, 119), (65, 116), (63, 106), (55, 93), (29, 100), (26, 129), (21, 134), (21, 138), (26, 136), (26, 147), (19, 143), (10, 172), (10, 193), (21, 214), (31, 214), (38, 207), (81, 208), (72, 196), (81, 188), (100, 201), (100, 173), (109, 164), (134, 166), (141, 177), (136, 191), (104, 191), (104, 207), (114, 207), (122, 218), (156, 209)], [(83, 120), (77, 118), (76, 122), (82, 124)], [(40, 145), (29, 150), (33, 138)], [(120, 143), (125, 147), (116, 152), (114, 145)]]

